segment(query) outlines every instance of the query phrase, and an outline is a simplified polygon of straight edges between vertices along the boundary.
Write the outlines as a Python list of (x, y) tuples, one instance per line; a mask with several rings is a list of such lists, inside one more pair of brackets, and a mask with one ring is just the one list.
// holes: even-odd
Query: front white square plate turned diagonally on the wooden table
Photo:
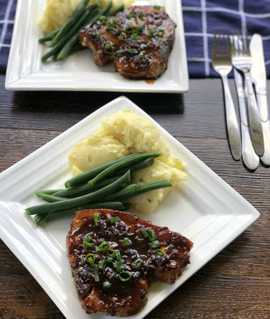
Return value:
[[(117, 98), (0, 174), (1, 238), (68, 319), (105, 318), (86, 315), (77, 298), (65, 248), (72, 217), (38, 227), (24, 209), (42, 202), (35, 197), (35, 191), (62, 188), (71, 176), (67, 158), (73, 146), (94, 131), (103, 116), (125, 108), (149, 117), (127, 98)], [(186, 163), (189, 179), (172, 189), (151, 216), (140, 217), (180, 232), (194, 242), (194, 248), (191, 264), (184, 268), (175, 284), (151, 284), (149, 300), (134, 316), (136, 319), (147, 315), (259, 217), (259, 212), (243, 197), (150, 120), (172, 155)]]

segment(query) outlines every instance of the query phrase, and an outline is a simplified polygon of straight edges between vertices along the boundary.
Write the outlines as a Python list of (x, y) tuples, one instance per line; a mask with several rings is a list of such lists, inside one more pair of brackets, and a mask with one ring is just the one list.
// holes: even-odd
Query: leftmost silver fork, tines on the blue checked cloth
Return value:
[(232, 157), (235, 160), (239, 160), (242, 156), (241, 151), (241, 136), (239, 125), (233, 105), (233, 100), (230, 93), (230, 87), (228, 83), (228, 74), (232, 70), (231, 64), (231, 47), (230, 37), (227, 33), (227, 55), (225, 55), (225, 35), (223, 33), (223, 45), (221, 54), (221, 36), (218, 37), (218, 55), (216, 54), (216, 31), (214, 32), (214, 41), (212, 49), (212, 65), (214, 70), (220, 74), (223, 82), (224, 97), (225, 97), (225, 109), (226, 109), (226, 122), (229, 135), (230, 149)]

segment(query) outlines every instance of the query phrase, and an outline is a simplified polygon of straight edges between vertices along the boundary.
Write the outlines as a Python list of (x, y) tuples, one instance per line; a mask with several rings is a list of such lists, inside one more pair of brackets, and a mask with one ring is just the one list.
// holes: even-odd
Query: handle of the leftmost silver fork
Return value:
[(230, 93), (228, 77), (227, 75), (223, 75), (221, 78), (222, 78), (223, 89), (224, 89), (226, 122), (227, 122), (227, 130), (229, 135), (230, 149), (231, 149), (232, 157), (235, 160), (239, 160), (242, 156), (239, 125), (238, 125), (238, 121), (237, 121), (237, 117), (235, 113), (235, 108), (233, 105), (233, 100)]

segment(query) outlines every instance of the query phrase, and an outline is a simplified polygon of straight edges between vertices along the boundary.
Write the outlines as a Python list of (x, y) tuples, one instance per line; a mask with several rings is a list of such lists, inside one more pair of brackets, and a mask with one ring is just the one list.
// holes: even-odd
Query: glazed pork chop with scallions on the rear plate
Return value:
[(157, 78), (167, 68), (175, 27), (164, 7), (133, 6), (86, 26), (80, 43), (93, 50), (97, 65), (114, 60), (125, 77)]

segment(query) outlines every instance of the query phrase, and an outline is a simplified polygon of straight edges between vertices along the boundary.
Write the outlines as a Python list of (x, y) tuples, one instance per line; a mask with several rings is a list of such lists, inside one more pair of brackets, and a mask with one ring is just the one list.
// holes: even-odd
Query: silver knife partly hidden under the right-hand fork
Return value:
[[(237, 36), (233, 37), (235, 48), (238, 49)], [(241, 44), (241, 43), (240, 43)], [(259, 156), (255, 153), (248, 121), (247, 97), (244, 89), (244, 78), (236, 68), (233, 68), (234, 80), (237, 89), (242, 135), (242, 158), (247, 168), (254, 171), (259, 165)]]

